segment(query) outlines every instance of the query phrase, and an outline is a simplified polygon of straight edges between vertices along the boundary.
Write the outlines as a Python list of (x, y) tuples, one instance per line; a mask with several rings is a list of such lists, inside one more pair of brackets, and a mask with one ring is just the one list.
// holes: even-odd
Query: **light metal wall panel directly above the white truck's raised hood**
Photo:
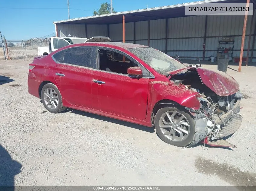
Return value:
[(96, 36), (108, 36), (108, 26), (106, 24), (88, 24), (87, 25), (87, 38)]

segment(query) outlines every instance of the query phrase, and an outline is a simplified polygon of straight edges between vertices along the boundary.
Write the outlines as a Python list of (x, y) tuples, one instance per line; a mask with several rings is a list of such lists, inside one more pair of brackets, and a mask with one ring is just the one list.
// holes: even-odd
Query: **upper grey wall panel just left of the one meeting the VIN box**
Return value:
[(150, 21), (150, 39), (165, 38), (166, 32), (165, 19), (151, 20)]

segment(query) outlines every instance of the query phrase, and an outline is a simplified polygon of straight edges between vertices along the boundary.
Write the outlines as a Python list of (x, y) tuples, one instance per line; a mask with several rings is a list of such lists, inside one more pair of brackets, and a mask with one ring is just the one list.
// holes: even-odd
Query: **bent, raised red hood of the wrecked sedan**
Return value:
[(170, 72), (175, 75), (185, 71), (196, 70), (201, 82), (214, 91), (219, 96), (228, 96), (235, 94), (239, 90), (239, 84), (230, 75), (221, 71), (213, 71), (205, 68), (187, 67)]

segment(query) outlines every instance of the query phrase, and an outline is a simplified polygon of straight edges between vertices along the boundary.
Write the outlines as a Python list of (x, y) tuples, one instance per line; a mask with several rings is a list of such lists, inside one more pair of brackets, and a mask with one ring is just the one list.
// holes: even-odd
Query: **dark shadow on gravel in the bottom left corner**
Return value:
[(14, 176), (21, 172), (22, 165), (12, 160), (10, 154), (0, 144), (0, 186), (11, 186), (14, 189)]

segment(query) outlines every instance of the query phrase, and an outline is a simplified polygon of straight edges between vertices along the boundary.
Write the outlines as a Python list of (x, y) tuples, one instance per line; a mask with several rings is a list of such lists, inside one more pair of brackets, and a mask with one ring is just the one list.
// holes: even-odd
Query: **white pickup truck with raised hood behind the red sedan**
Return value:
[(51, 37), (49, 46), (38, 46), (37, 53), (38, 56), (48, 55), (55, 50), (58, 50), (64, 46), (68, 46), (70, 44), (79, 44), (79, 43), (88, 43), (88, 42), (110, 42), (111, 39), (109, 37), (91, 37), (88, 38), (78, 38), (78, 37)]

